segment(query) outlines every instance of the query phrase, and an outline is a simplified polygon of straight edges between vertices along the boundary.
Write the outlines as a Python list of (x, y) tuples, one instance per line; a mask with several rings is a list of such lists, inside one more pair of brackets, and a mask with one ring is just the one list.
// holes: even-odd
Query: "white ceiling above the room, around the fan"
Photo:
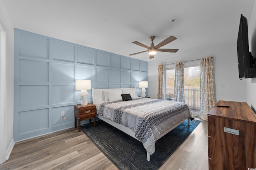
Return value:
[[(240, 14), (250, 21), (255, 0), (2, 0), (14, 27), (118, 55), (146, 51), (132, 43), (157, 45), (158, 52), (131, 57), (154, 61), (236, 43)], [(174, 20), (172, 22), (172, 20)]]

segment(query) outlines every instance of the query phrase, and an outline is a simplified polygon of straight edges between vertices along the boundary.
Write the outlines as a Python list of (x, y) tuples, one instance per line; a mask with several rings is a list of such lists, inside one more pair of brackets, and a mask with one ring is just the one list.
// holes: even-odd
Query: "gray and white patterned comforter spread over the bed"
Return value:
[(182, 102), (149, 98), (101, 102), (96, 108), (98, 115), (132, 129), (149, 154), (155, 152), (156, 140), (164, 132), (192, 117), (188, 106)]

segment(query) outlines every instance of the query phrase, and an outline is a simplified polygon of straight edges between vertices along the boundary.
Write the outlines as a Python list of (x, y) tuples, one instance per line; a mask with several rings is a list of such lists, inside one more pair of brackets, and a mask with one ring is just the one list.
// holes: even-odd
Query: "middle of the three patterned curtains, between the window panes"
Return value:
[(184, 63), (175, 63), (174, 101), (184, 102)]

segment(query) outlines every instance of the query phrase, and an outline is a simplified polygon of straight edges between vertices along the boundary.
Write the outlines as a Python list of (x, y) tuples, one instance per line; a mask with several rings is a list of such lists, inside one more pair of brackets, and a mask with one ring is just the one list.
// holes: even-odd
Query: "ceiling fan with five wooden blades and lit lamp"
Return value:
[[(147, 51), (148, 51), (150, 59), (154, 58), (157, 51), (169, 52), (169, 53), (176, 53), (178, 51), (178, 49), (159, 49), (160, 47), (162, 47), (162, 46), (174, 41), (175, 39), (177, 39), (174, 36), (170, 36), (169, 38), (165, 39), (164, 41), (162, 41), (161, 43), (159, 43), (156, 46), (153, 43), (153, 40), (155, 39), (155, 36), (150, 36), (149, 39), (150, 39), (150, 41), (152, 41), (150, 47), (148, 47), (148, 46), (146, 46), (142, 43), (139, 43), (138, 41), (134, 41), (132, 43), (148, 49)], [(140, 54), (140, 53), (144, 53), (144, 52), (146, 52), (146, 51), (141, 51), (141, 52), (130, 54), (130, 55)]]

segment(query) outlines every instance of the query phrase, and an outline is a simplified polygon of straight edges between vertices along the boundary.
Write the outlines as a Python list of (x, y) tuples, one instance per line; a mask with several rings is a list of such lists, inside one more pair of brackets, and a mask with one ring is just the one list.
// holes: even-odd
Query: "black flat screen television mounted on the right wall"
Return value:
[(236, 45), (239, 78), (244, 79), (256, 77), (255, 59), (252, 57), (252, 53), (249, 51), (247, 19), (242, 14)]

